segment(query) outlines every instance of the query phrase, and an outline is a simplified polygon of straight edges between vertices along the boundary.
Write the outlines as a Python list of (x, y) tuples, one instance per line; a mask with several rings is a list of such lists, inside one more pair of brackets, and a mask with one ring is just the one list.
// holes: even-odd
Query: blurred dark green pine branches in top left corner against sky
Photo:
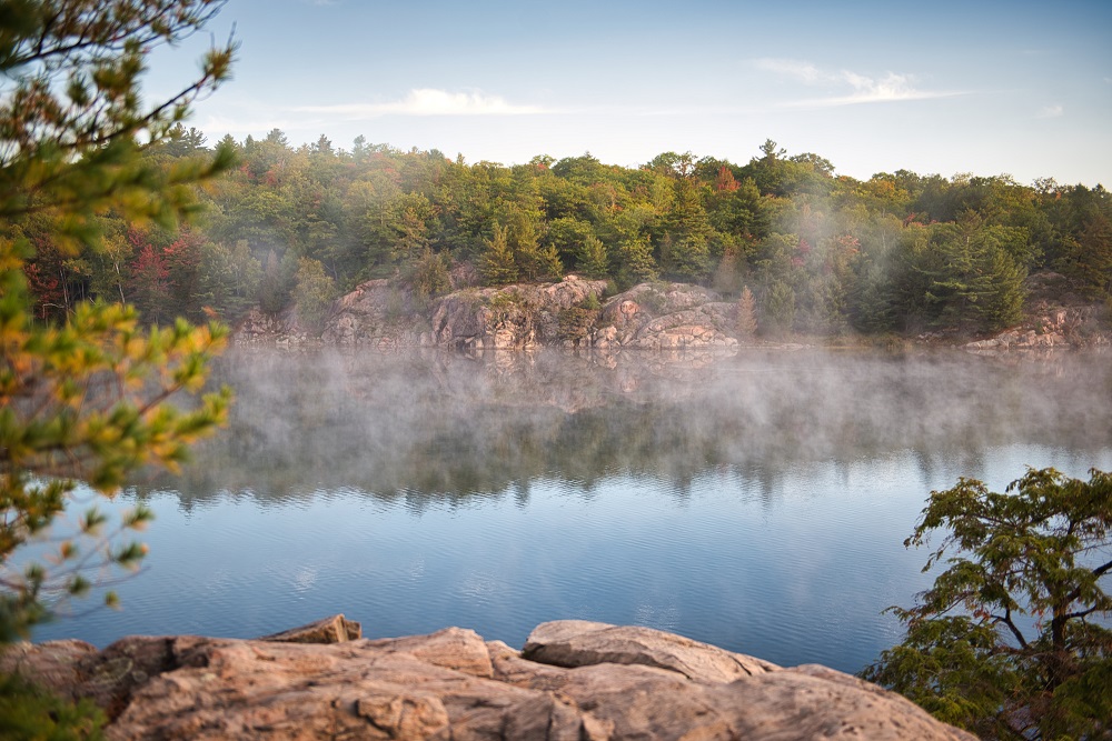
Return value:
[(218, 0), (19, 0), (0, 33), (0, 218), (62, 209), (63, 247), (88, 243), (97, 216), (120, 208), (170, 224), (195, 202), (190, 183), (226, 169), (231, 153), (163, 169), (141, 158), (189, 103), (229, 74), (234, 47), (206, 54), (200, 77), (180, 93), (140, 108), (146, 56), (195, 32)]

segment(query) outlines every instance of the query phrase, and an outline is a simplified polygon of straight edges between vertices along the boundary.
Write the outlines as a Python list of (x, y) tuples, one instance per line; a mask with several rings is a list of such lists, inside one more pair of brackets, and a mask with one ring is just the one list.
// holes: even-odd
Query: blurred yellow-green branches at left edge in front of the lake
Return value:
[[(18, 260), (8, 256), (8, 264)], [(205, 394), (192, 409), (165, 401), (199, 393), (206, 363), (224, 347), (227, 329), (193, 329), (183, 320), (145, 332), (135, 309), (79, 303), (64, 326), (32, 324), (18, 269), (2, 269), (0, 283), (0, 641), (23, 635), (46, 617), (46, 593), (82, 595), (86, 573), (102, 567), (138, 567), (137, 545), (110, 545), (96, 508), (77, 532), (62, 537), (48, 569), (20, 572), (12, 553), (42, 533), (62, 512), (76, 479), (111, 495), (143, 465), (176, 469), (188, 445), (226, 419), (231, 393)], [(137, 509), (120, 530), (150, 519)], [(115, 601), (109, 593), (106, 601)]]

